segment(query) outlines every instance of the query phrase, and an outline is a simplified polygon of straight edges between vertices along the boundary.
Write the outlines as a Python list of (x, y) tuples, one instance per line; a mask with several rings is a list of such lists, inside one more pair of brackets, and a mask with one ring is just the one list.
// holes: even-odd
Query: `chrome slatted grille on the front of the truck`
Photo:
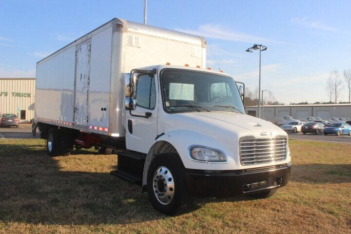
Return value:
[(254, 165), (283, 161), (287, 156), (288, 139), (243, 138), (240, 140), (240, 162), (242, 165)]

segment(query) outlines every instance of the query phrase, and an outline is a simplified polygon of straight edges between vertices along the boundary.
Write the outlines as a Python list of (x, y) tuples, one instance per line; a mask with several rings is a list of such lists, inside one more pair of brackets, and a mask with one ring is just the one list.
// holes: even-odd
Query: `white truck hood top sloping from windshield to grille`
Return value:
[[(191, 130), (209, 136), (271, 137), (287, 136), (286, 132), (273, 123), (233, 112), (190, 112), (167, 115), (164, 122), (164, 132), (172, 130)], [(217, 137), (216, 137), (217, 138)]]

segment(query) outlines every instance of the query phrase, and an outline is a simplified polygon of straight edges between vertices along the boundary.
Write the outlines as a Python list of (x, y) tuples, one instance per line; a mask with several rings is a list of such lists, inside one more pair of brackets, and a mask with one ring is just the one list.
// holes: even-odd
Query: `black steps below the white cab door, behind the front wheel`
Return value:
[(111, 171), (111, 174), (141, 185), (146, 154), (126, 150), (118, 150), (116, 153), (117, 170)]

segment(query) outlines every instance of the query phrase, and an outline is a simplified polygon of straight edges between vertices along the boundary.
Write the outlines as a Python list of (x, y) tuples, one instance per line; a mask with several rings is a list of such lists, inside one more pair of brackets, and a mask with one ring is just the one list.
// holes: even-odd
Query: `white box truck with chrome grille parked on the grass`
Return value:
[(202, 37), (113, 19), (37, 63), (33, 133), (51, 156), (115, 152), (112, 173), (167, 215), (191, 196), (271, 196), (288, 136), (245, 115), (242, 83), (205, 57)]

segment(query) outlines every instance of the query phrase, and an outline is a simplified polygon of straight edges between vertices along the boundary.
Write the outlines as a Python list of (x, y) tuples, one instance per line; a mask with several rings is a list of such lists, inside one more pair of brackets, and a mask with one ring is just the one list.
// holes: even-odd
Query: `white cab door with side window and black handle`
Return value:
[[(151, 73), (138, 74), (133, 95), (135, 109), (125, 110), (126, 147), (148, 153), (157, 136), (157, 80)], [(134, 110), (133, 110), (134, 109)], [(132, 115), (131, 115), (132, 114)], [(150, 116), (151, 115), (151, 116)]]

